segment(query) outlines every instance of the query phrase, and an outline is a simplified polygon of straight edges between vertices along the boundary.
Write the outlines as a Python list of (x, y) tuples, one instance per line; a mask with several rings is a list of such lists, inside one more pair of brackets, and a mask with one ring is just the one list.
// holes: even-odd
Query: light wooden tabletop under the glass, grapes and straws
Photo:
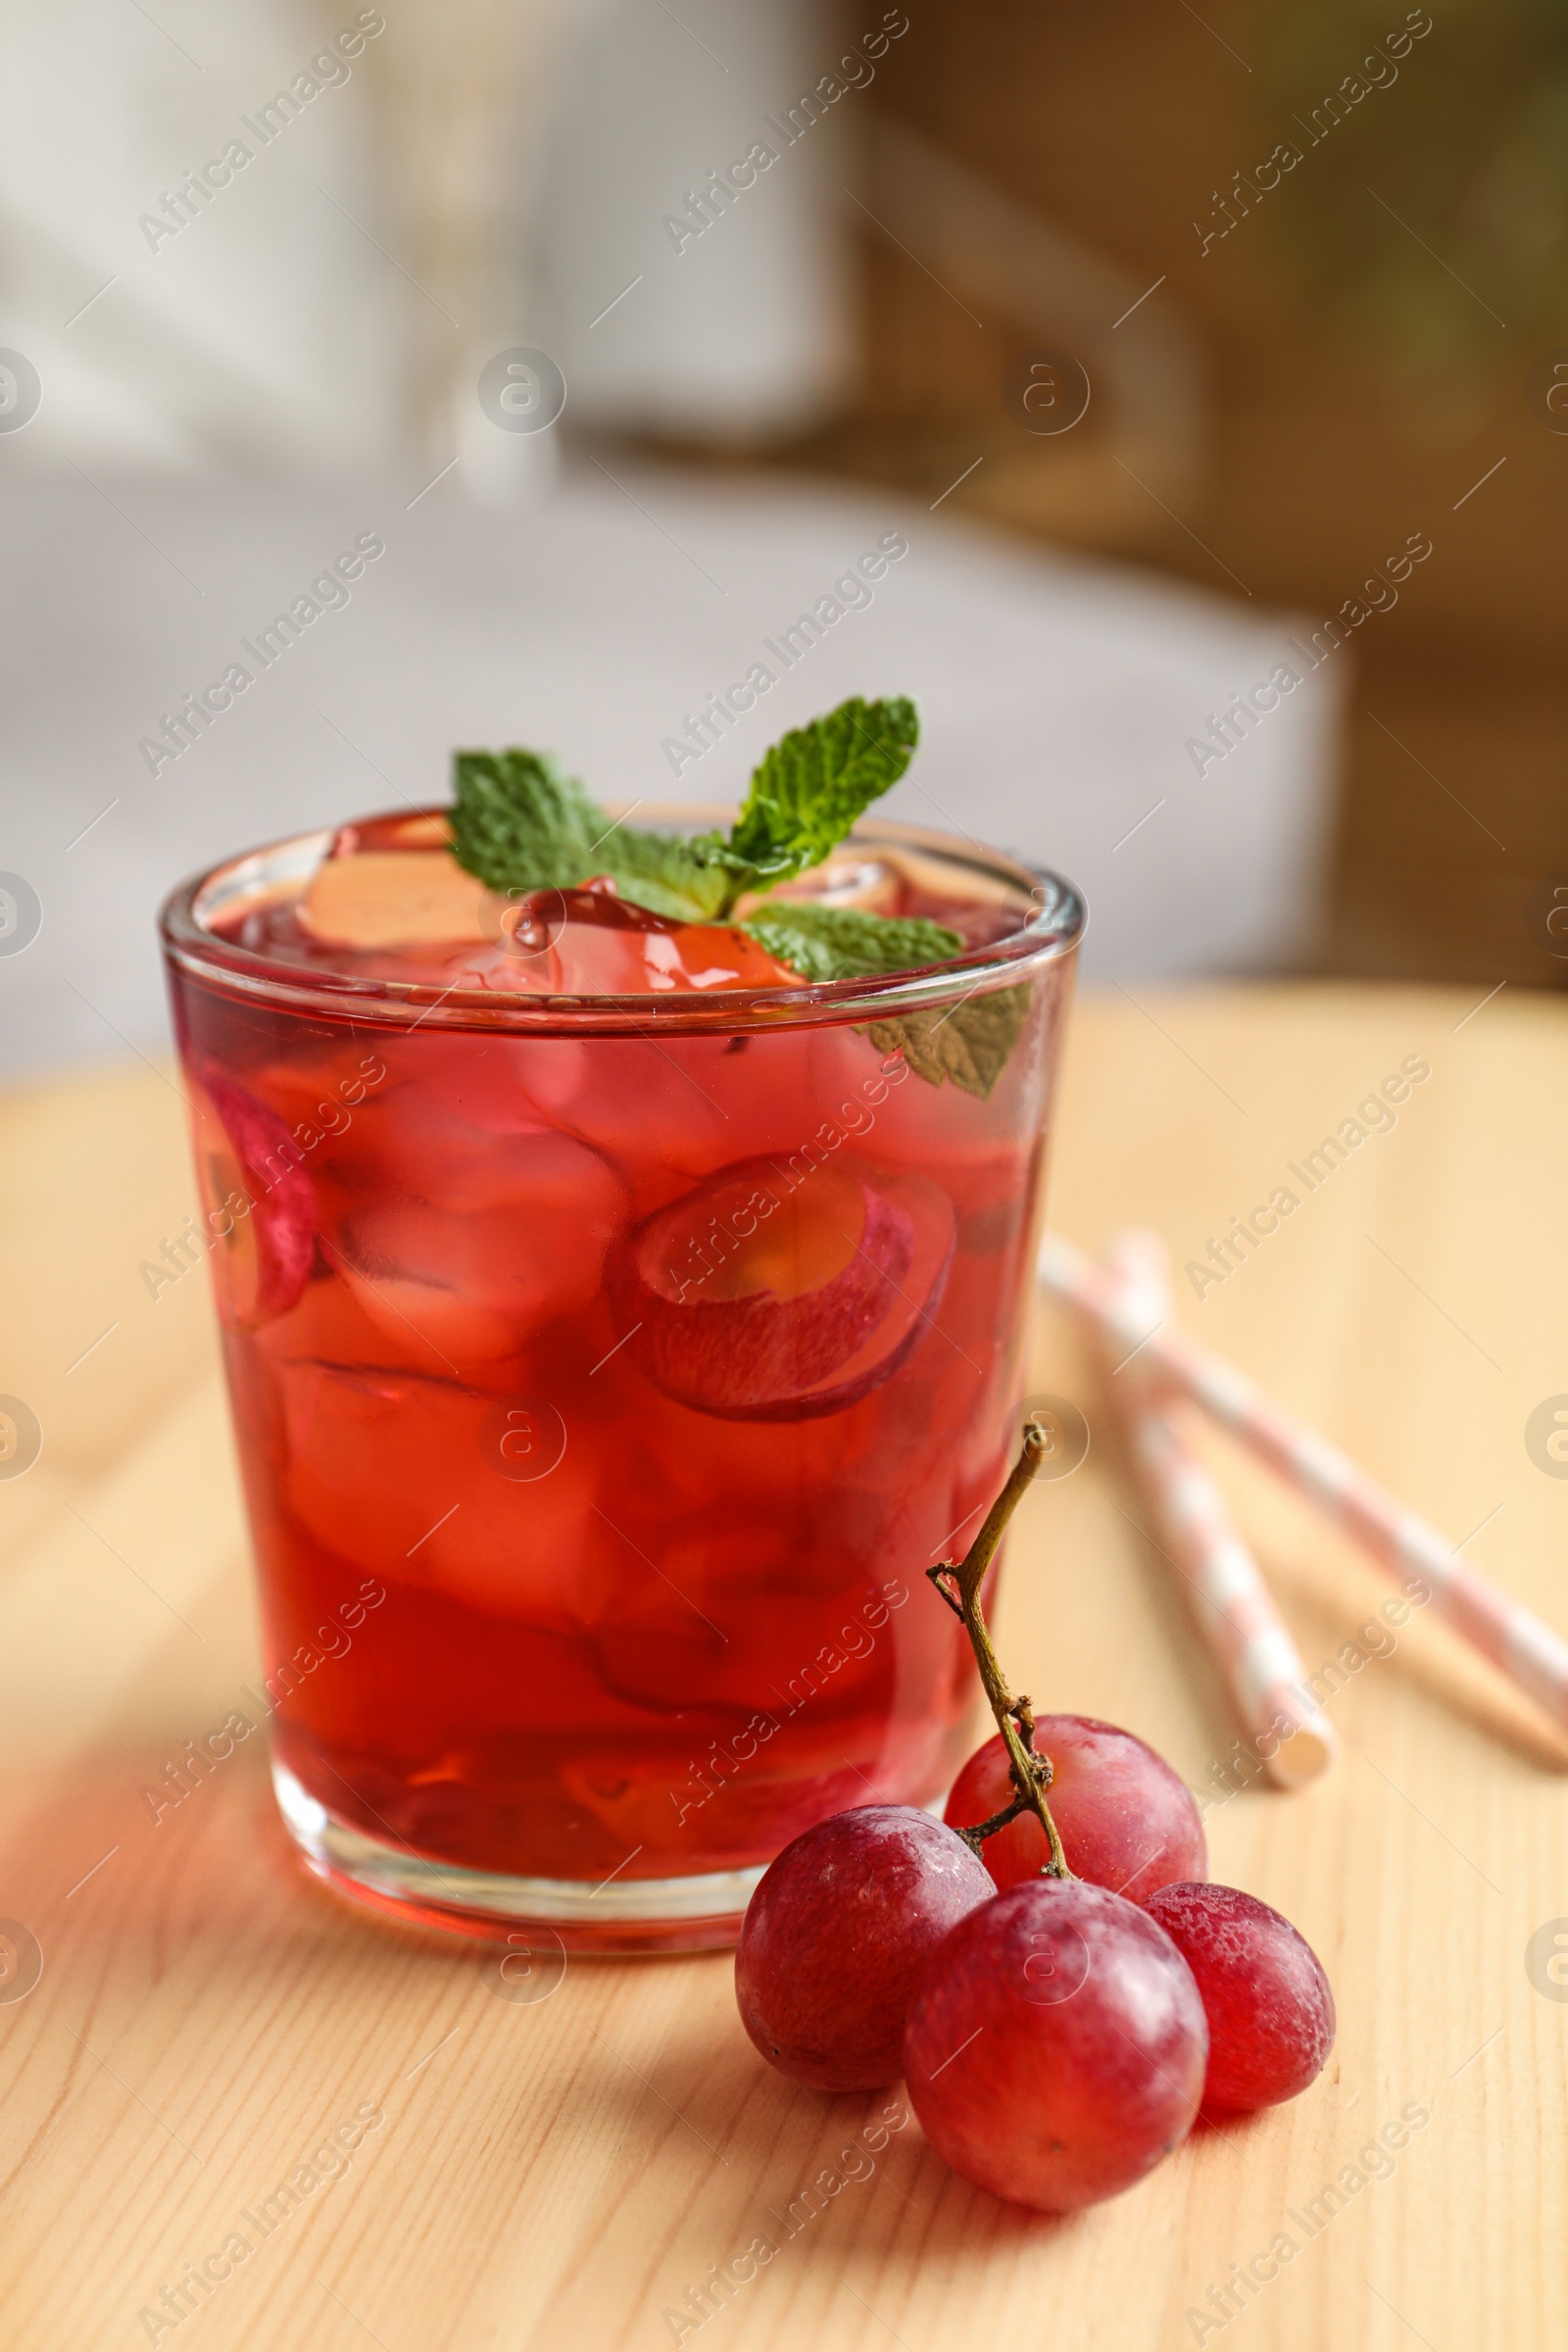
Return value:
[[(1432, 1075), (1396, 1131), (1201, 1303), (1187, 1287), (1182, 1319), (1561, 1628), (1568, 1482), (1530, 1461), (1523, 1428), (1568, 1390), (1563, 1009), (1512, 990), (1472, 1002), (1084, 1002), (1053, 1221), (1091, 1247), (1154, 1223), (1180, 1265), (1422, 1056)], [(252, 2253), (160, 2343), (1568, 2340), (1568, 1985), (1526, 1973), (1537, 1929), (1561, 1919), (1568, 1936), (1568, 1743), (1422, 1618), (1347, 1672), (1326, 1780), (1208, 1813), (1215, 1877), (1281, 1905), (1333, 1976), (1340, 2039), (1305, 2098), (1190, 2140), (1072, 2223), (990, 2201), (903, 2124), (719, 2314), (677, 2331), (665, 2312), (686, 2288), (778, 2237), (769, 2209), (785, 2213), (891, 2093), (827, 2100), (764, 2067), (722, 1955), (574, 1962), (552, 1999), (498, 1999), (470, 1950), (381, 1929), (303, 1877), (254, 1748), (153, 1823), (143, 1783), (256, 1670), (205, 1277), (153, 1301), (136, 1275), (193, 1204), (179, 1101), (129, 1065), (12, 1094), (0, 1120), (0, 1388), (45, 1428), (38, 1465), (0, 1482), (0, 1912), (21, 1924), (5, 1931), (21, 1962), (28, 1936), (45, 1962), (26, 1999), (0, 2004), (7, 2347), (148, 2343), (141, 2310), (235, 2230)], [(1208, 1788), (1239, 1726), (1056, 1317), (1034, 1381), (1084, 1399), (1095, 1444), (1025, 1501), (1004, 1658), (1037, 1703), (1124, 1722)], [(1309, 1668), (1335, 1658), (1382, 1597), (1375, 1571), (1234, 1456), (1215, 1461)], [(249, 2227), (240, 2216), (355, 2110), (357, 2145), (313, 2166), (336, 2176), (270, 2234)], [(1415, 2112), (1429, 2122), (1392, 2171), (1375, 2164), (1387, 2176), (1356, 2164)], [(1342, 2206), (1312, 2204), (1326, 2183)], [(1295, 2251), (1260, 2265), (1267, 2284), (1232, 2286), (1220, 2324), (1211, 2288), (1281, 2234)]]

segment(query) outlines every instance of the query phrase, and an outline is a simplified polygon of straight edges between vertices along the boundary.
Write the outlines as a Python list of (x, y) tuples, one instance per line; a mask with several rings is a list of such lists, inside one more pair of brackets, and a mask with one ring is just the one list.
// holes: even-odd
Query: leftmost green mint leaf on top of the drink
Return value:
[(614, 875), (623, 898), (677, 922), (717, 915), (726, 877), (672, 833), (614, 823), (576, 776), (538, 750), (454, 755), (451, 854), (489, 889), (574, 889)]

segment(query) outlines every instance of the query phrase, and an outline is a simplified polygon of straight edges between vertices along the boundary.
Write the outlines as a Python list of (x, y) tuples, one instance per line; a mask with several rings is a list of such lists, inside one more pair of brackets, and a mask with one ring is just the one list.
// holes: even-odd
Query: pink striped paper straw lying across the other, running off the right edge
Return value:
[[(1434, 1526), (1385, 1494), (1347, 1454), (1295, 1421), (1222, 1357), (1182, 1338), (1171, 1324), (1150, 1324), (1114, 1279), (1060, 1235), (1046, 1235), (1039, 1279), (1105, 1329), (1121, 1364), (1147, 1359), (1145, 1376), (1201, 1404), (1222, 1428), (1300, 1494), (1328, 1512), (1396, 1578), (1420, 1576), (1432, 1609), (1462, 1632), (1509, 1682), (1568, 1726), (1568, 1642), (1509, 1599)], [(1128, 1312), (1131, 1305), (1131, 1312)]]

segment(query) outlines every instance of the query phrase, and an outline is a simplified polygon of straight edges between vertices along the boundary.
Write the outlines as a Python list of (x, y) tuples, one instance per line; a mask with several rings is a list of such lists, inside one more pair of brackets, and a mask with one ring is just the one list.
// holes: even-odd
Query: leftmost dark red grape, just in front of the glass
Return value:
[(877, 2091), (931, 1952), (994, 1886), (964, 1839), (912, 1804), (804, 1830), (752, 1896), (736, 1999), (764, 2058), (813, 2091)]

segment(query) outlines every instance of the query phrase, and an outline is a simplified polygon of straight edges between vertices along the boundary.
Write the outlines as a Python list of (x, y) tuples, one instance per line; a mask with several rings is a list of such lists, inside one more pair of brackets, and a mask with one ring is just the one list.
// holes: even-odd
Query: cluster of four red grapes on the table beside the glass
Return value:
[[(1027, 1703), (1025, 1703), (1027, 1705)], [(959, 1830), (1016, 1795), (1004, 1738), (959, 1773), (945, 1823), (905, 1804), (835, 1813), (750, 1900), (736, 1997), (752, 2042), (818, 2091), (896, 2082), (966, 2180), (1046, 2213), (1098, 2204), (1199, 2112), (1305, 2091), (1333, 1992), (1267, 1903), (1211, 1886), (1197, 1806), (1114, 1724), (1030, 1724), (1051, 1818), (1020, 1811), (983, 1858)]]

